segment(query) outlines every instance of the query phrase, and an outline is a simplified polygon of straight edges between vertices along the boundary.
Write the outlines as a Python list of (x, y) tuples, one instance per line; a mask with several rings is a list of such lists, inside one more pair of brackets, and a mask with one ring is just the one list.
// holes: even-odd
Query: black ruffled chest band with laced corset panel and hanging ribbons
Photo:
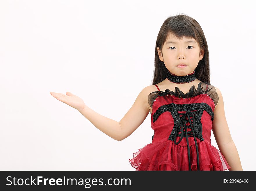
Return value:
[[(207, 103), (189, 103), (189, 104), (170, 103), (170, 104), (160, 106), (153, 115), (153, 122), (155, 122), (158, 119), (158, 117), (163, 112), (166, 112), (166, 111), (170, 112), (171, 115), (173, 116), (174, 126), (168, 140), (172, 140), (174, 141), (175, 144), (179, 144), (185, 134), (186, 141), (187, 141), (187, 148), (188, 148), (189, 170), (191, 170), (190, 149), (189, 149), (189, 141), (188, 141), (189, 137), (194, 137), (196, 153), (197, 153), (197, 166), (198, 166), (198, 170), (200, 170), (198, 144), (196, 141), (196, 137), (199, 138), (201, 141), (204, 140), (202, 136), (203, 128), (201, 123), (201, 117), (204, 110), (207, 111), (209, 115), (211, 115), (211, 120), (213, 121), (214, 112), (212, 111), (211, 106), (209, 106)], [(186, 111), (186, 113), (178, 113), (178, 111)], [(180, 115), (182, 115), (182, 117), (180, 117)], [(192, 117), (192, 120), (191, 120), (191, 117)], [(188, 122), (189, 122), (189, 125), (186, 125)], [(190, 128), (191, 131), (187, 131), (187, 128)], [(177, 136), (180, 137), (180, 140), (178, 142), (176, 142)], [(154, 138), (154, 135), (152, 136), (152, 141), (153, 141), (153, 138)]]

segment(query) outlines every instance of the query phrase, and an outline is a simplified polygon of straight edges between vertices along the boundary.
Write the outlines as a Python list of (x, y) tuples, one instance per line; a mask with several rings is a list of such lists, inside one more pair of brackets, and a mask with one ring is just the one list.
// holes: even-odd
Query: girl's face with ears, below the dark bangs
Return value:
[[(177, 76), (191, 74), (197, 67), (199, 60), (204, 57), (204, 50), (199, 49), (195, 39), (183, 38), (179, 40), (172, 34), (167, 37), (162, 51), (157, 47), (157, 52), (159, 59), (164, 62), (166, 68)], [(178, 67), (179, 64), (186, 66)]]

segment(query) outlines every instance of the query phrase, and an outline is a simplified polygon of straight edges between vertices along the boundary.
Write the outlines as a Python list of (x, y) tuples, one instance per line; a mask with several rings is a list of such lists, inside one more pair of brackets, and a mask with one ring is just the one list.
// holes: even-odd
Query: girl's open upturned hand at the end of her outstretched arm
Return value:
[(50, 94), (56, 99), (58, 99), (59, 101), (62, 101), (63, 103), (66, 103), (72, 108), (77, 109), (79, 112), (86, 107), (83, 100), (80, 97), (72, 94), (71, 92), (67, 92), (66, 95), (61, 93), (55, 93), (55, 92), (50, 92)]

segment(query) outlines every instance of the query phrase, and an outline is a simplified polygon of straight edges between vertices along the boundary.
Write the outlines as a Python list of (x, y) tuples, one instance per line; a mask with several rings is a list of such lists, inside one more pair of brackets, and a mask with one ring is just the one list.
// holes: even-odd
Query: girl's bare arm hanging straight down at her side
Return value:
[(227, 125), (224, 101), (221, 91), (216, 88), (219, 100), (214, 109), (214, 120), (212, 124), (212, 131), (218, 147), (231, 167), (229, 170), (243, 170), (241, 161), (237, 152), (237, 148), (231, 138), (230, 131)]

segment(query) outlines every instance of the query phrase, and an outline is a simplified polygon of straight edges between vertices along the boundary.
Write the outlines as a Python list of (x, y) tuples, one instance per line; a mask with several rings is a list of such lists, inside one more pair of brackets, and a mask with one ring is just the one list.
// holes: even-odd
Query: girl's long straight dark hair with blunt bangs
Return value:
[(154, 77), (152, 85), (160, 83), (167, 76), (168, 69), (159, 59), (157, 47), (162, 50), (163, 44), (166, 42), (170, 33), (178, 39), (184, 37), (194, 38), (198, 42), (199, 48), (203, 49), (205, 53), (202, 60), (199, 60), (198, 66), (195, 68), (196, 77), (200, 81), (210, 83), (209, 53), (204, 32), (195, 19), (185, 14), (179, 14), (168, 17), (163, 22), (158, 33), (155, 47)]

